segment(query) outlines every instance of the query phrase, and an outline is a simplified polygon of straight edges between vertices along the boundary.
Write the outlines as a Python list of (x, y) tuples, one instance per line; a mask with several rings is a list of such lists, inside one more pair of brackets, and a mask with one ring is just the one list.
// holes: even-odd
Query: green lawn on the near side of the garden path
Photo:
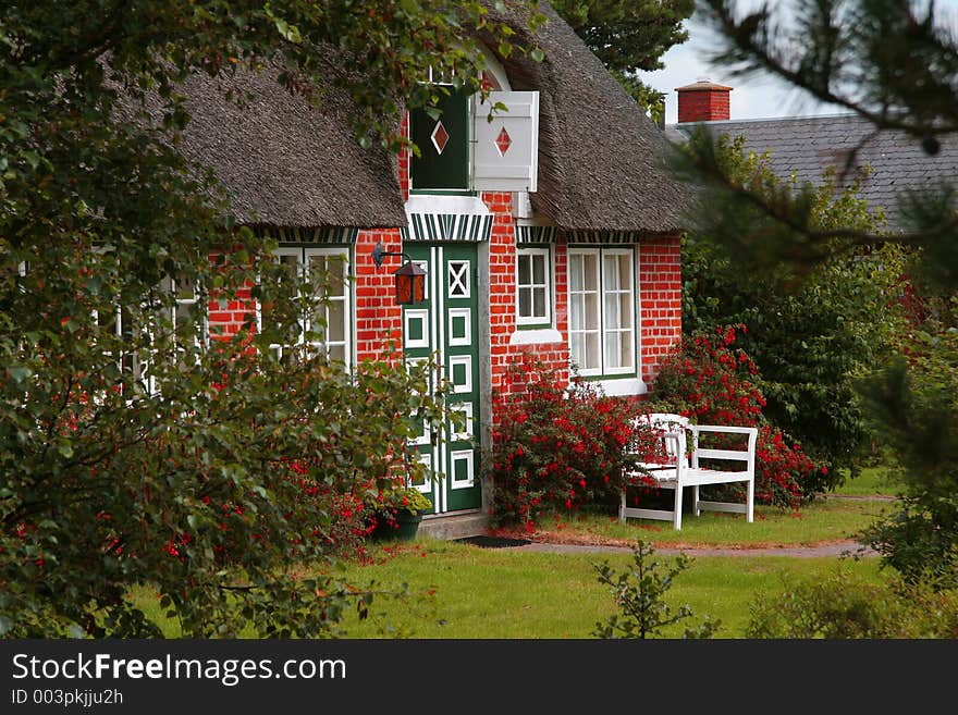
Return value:
[[(353, 565), (347, 578), (397, 585), (408, 582), (420, 596), (410, 604), (378, 603), (370, 620), (343, 624), (349, 638), (381, 638), (390, 626), (420, 639), (582, 639), (597, 621), (615, 613), (612, 594), (592, 566), (609, 560), (616, 569), (631, 555), (551, 554), (479, 548), (420, 540), (378, 554), (372, 566)], [(658, 554), (655, 558), (671, 562)], [(777, 556), (699, 557), (676, 577), (665, 601), (676, 611), (688, 604), (693, 617), (722, 621), (718, 638), (742, 638), (749, 604), (758, 592), (775, 593), (786, 579), (838, 569), (880, 582), (877, 559), (788, 558)], [(679, 637), (687, 624), (664, 634)]]

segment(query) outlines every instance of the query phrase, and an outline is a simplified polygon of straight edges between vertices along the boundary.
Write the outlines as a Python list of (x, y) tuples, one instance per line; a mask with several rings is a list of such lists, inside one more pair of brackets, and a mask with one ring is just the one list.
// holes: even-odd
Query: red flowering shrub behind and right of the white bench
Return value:
[(745, 326), (726, 325), (686, 337), (661, 365), (654, 404), (660, 411), (701, 424), (758, 427), (756, 501), (796, 508), (821, 490), (827, 468), (763, 417), (765, 398), (754, 384), (758, 369), (744, 350), (733, 347), (739, 331)]

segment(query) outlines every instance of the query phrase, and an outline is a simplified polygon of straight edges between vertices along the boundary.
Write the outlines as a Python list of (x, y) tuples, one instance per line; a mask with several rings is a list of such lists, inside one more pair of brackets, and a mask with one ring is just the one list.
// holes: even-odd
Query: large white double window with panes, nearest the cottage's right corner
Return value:
[(582, 375), (636, 374), (631, 248), (569, 248), (569, 358)]

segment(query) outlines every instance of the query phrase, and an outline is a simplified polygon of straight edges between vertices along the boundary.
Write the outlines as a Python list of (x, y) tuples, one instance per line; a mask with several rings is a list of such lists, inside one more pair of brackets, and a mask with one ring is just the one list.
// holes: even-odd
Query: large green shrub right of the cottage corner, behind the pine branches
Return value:
[[(733, 181), (750, 190), (794, 199), (800, 188), (794, 177), (774, 175), (767, 155), (745, 152), (742, 137), (722, 139), (717, 151)], [(881, 233), (881, 210), (858, 194), (865, 176), (843, 186), (826, 173), (809, 197), (810, 224)], [(753, 229), (752, 218), (760, 220), (748, 215), (744, 222)], [(872, 247), (761, 272), (742, 271), (737, 250), (742, 248), (729, 248), (701, 227), (684, 238), (684, 332), (747, 325), (738, 345), (759, 369), (765, 418), (826, 464), (833, 480), (846, 470), (855, 476), (875, 442), (855, 381), (892, 354), (902, 332), (901, 248)]]

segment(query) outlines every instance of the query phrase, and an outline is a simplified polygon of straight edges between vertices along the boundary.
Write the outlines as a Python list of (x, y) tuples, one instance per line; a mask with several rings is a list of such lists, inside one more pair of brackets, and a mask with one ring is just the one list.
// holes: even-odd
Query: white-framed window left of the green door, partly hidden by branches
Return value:
[[(352, 362), (352, 300), (349, 292), (348, 249), (336, 247), (281, 247), (275, 259), (297, 278), (307, 281), (314, 300), (299, 318), (299, 336), (295, 345), (307, 345), (323, 353), (330, 360)], [(268, 320), (260, 312), (260, 320)], [(292, 353), (294, 345), (270, 346), (280, 359)]]

